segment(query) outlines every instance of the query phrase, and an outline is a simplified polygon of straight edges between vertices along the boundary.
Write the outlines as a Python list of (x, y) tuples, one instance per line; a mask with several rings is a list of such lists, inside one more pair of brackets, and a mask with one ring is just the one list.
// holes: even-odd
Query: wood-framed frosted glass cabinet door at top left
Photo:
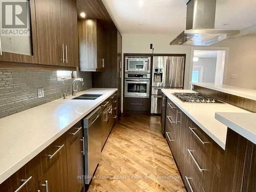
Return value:
[[(1, 61), (35, 62), (34, 0), (0, 0)], [(33, 38), (32, 38), (33, 37)]]

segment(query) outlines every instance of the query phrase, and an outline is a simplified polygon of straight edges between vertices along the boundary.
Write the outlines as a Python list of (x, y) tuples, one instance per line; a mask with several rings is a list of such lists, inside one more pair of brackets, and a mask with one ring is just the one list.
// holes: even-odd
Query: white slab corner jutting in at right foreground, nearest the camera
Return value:
[(215, 118), (256, 144), (256, 113), (216, 113)]

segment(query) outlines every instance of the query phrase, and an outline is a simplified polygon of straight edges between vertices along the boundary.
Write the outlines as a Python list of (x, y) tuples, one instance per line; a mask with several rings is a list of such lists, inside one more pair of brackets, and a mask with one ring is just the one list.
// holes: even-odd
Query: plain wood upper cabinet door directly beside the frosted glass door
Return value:
[(61, 45), (60, 0), (35, 0), (35, 10), (38, 62), (46, 65), (64, 64), (62, 53), (64, 50)]

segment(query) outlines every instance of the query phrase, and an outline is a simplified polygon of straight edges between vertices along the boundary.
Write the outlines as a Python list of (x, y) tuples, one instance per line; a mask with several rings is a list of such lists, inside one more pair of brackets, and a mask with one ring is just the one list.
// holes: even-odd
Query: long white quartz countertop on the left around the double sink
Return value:
[[(0, 184), (115, 91), (93, 88), (0, 119)], [(85, 93), (103, 95), (95, 100), (71, 99)]]

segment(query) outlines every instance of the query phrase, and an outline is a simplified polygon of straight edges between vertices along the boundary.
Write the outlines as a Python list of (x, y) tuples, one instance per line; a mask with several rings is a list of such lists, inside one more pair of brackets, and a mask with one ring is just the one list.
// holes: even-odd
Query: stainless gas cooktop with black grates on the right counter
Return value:
[(224, 103), (218, 99), (201, 93), (174, 93), (176, 97), (184, 102), (191, 103)]

